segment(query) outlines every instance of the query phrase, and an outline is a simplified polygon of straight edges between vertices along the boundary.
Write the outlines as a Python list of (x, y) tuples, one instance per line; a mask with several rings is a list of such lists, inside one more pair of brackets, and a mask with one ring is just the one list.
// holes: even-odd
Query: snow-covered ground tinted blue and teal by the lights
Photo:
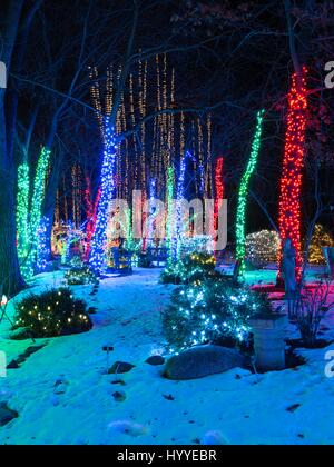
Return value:
[[(159, 285), (159, 274), (137, 269), (104, 279), (96, 296), (89, 295), (91, 286), (72, 288), (97, 307), (95, 326), (86, 334), (38, 339), (36, 345), (46, 346), (0, 378), (0, 403), (19, 413), (0, 428), (0, 444), (196, 444), (212, 430), (228, 444), (334, 443), (334, 378), (324, 374), (325, 352), (334, 345), (301, 351), (306, 365), (261, 376), (234, 369), (170, 381), (161, 377), (161, 366), (146, 364), (150, 355), (164, 352), (159, 314), (173, 286)], [(274, 278), (274, 270), (247, 277), (249, 284)], [(35, 291), (61, 280), (62, 272), (40, 275)], [(326, 337), (333, 337), (334, 314), (326, 327)], [(9, 329), (3, 320), (0, 350), (8, 361), (32, 345), (10, 340)], [(106, 375), (104, 345), (115, 347), (109, 366), (122, 360), (135, 368), (117, 378)], [(124, 385), (115, 384), (119, 378)], [(59, 379), (63, 394), (57, 395)], [(126, 394), (124, 401), (112, 397), (117, 390)]]

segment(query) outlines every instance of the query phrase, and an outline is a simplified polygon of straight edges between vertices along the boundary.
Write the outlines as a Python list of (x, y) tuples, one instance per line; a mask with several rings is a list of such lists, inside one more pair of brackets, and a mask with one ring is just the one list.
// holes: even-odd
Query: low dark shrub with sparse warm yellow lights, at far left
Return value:
[(30, 337), (67, 336), (91, 327), (86, 302), (65, 287), (30, 294), (16, 304), (14, 329), (22, 328)]

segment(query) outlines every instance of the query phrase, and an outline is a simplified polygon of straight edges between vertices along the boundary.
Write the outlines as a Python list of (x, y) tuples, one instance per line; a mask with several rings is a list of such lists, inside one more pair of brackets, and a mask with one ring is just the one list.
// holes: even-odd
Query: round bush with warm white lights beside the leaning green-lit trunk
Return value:
[(279, 236), (274, 230), (261, 230), (246, 236), (246, 258), (252, 266), (277, 260)]

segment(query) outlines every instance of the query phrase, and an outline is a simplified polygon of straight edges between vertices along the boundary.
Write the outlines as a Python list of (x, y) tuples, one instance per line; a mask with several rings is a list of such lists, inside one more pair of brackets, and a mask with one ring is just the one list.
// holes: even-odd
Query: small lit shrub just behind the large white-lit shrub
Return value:
[(174, 264), (168, 264), (160, 276), (163, 284), (193, 284), (204, 278), (220, 276), (215, 270), (216, 260), (212, 254), (199, 251), (186, 255)]

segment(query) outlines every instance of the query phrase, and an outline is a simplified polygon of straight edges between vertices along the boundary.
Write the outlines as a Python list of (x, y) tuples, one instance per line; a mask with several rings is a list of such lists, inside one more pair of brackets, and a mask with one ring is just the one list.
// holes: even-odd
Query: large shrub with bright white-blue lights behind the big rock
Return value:
[(178, 287), (161, 315), (169, 352), (204, 344), (246, 349), (250, 342), (247, 320), (256, 312), (272, 312), (266, 295), (223, 276), (218, 281)]

